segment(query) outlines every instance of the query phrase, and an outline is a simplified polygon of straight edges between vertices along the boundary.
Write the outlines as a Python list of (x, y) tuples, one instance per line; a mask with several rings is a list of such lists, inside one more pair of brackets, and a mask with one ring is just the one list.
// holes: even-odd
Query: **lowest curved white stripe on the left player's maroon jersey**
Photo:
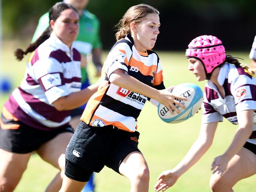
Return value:
[(71, 116), (67, 116), (62, 122), (57, 123), (50, 120), (47, 120), (44, 116), (34, 111), (28, 103), (25, 102), (25, 100), (22, 98), (20, 94), (19, 89), (15, 89), (13, 91), (13, 97), (16, 100), (16, 102), (19, 104), (19, 106), (22, 108), (25, 113), (27, 113), (29, 116), (34, 118), (35, 120), (39, 121), (41, 124), (47, 127), (59, 127), (64, 124), (67, 124), (71, 120)]

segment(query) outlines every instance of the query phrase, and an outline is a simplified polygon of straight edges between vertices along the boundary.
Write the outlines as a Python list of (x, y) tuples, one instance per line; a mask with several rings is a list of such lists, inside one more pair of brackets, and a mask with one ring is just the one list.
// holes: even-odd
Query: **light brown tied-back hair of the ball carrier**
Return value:
[(131, 22), (138, 24), (143, 21), (149, 13), (156, 13), (159, 15), (159, 11), (156, 8), (147, 4), (139, 4), (130, 7), (116, 25), (118, 31), (115, 33), (115, 37), (117, 41), (124, 38), (127, 33), (130, 33)]

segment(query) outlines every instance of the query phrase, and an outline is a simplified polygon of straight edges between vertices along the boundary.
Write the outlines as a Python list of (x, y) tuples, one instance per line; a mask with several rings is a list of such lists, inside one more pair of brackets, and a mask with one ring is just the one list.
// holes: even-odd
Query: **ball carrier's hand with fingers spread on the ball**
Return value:
[[(173, 88), (174, 88), (174, 86), (169, 87), (167, 89), (159, 90), (159, 94), (156, 97), (156, 100), (158, 102), (160, 102), (161, 104), (165, 105), (171, 114), (174, 114), (173, 110), (175, 110), (178, 114), (180, 114), (180, 111), (177, 109), (176, 106), (178, 105), (178, 106), (186, 109), (186, 106), (180, 102), (181, 102), (181, 100), (187, 101), (187, 98), (171, 93), (170, 91)], [(172, 108), (173, 108), (173, 110), (172, 110)]]

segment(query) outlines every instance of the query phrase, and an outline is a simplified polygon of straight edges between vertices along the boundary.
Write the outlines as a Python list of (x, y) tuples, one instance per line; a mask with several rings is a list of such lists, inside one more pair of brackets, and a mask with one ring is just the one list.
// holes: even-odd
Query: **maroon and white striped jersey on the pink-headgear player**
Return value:
[[(210, 80), (206, 83), (202, 123), (222, 122), (224, 117), (238, 125), (236, 111), (256, 110), (256, 78), (241, 67), (225, 63), (217, 80), (224, 88), (225, 98)], [(253, 133), (247, 141), (256, 144), (256, 111)]]

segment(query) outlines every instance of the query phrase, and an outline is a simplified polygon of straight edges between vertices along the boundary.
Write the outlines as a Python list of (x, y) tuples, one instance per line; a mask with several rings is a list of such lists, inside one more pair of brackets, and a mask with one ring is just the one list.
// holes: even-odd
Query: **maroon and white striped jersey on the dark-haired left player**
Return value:
[(81, 90), (80, 54), (54, 33), (30, 56), (20, 87), (4, 104), (2, 114), (41, 130), (67, 125), (70, 111), (57, 111), (58, 98)]

